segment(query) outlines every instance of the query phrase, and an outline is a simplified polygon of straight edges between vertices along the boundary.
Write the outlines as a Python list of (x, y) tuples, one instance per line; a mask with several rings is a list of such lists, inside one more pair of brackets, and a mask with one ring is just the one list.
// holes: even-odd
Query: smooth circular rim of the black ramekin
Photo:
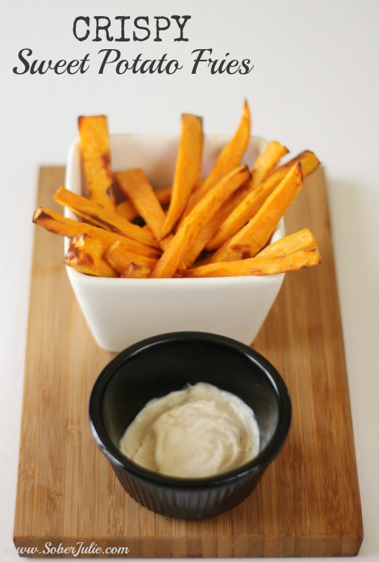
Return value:
[[(265, 447), (256, 455), (251, 461), (242, 464), (236, 469), (226, 471), (215, 476), (206, 476), (202, 478), (180, 478), (175, 476), (167, 476), (160, 474), (128, 459), (124, 453), (119, 450), (119, 447), (114, 445), (109, 437), (105, 425), (102, 420), (102, 395), (105, 388), (112, 378), (114, 372), (124, 363), (127, 358), (143, 353), (149, 347), (157, 346), (168, 341), (211, 341), (220, 346), (233, 348), (243, 355), (247, 355), (255, 365), (258, 365), (262, 372), (270, 380), (277, 393), (279, 401), (279, 419), (277, 428), (275, 429), (272, 438), (265, 445)], [(91, 426), (91, 432), (95, 438), (100, 450), (109, 462), (121, 471), (126, 471), (133, 477), (145, 481), (149, 484), (160, 485), (164, 488), (171, 488), (176, 490), (201, 490), (204, 488), (218, 488), (228, 483), (235, 483), (255, 473), (260, 473), (265, 469), (267, 464), (272, 462), (274, 457), (277, 456), (283, 447), (288, 431), (291, 425), (292, 407), (291, 398), (288, 388), (282, 379), (277, 369), (270, 363), (261, 353), (255, 351), (253, 348), (242, 344), (241, 342), (221, 336), (219, 334), (211, 334), (208, 332), (168, 332), (166, 334), (159, 334), (146, 339), (142, 339), (131, 346), (128, 346), (123, 351), (120, 351), (110, 360), (107, 365), (102, 369), (98, 378), (93, 385), (91, 396), (88, 406), (88, 417)]]

